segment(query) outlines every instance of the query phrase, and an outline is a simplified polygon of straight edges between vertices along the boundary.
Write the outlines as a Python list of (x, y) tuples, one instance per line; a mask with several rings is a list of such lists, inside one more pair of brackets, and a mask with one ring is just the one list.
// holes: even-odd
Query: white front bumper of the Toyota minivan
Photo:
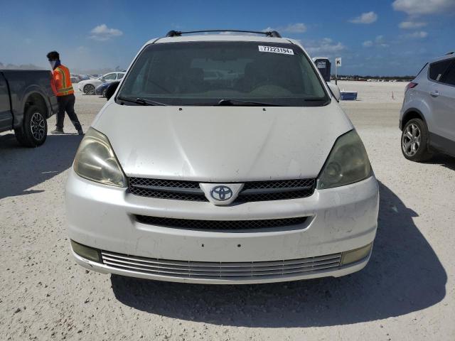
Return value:
[[(302, 199), (215, 206), (209, 202), (138, 197), (80, 178), (70, 171), (66, 189), (68, 232), (75, 242), (121, 256), (183, 262), (277, 262), (338, 254), (373, 242), (378, 222), (378, 184), (374, 177), (359, 183), (315, 190)], [(245, 232), (208, 232), (142, 224), (134, 215), (192, 220), (265, 220), (309, 217), (293, 228)], [(260, 278), (205, 278), (119, 269), (75, 259), (103, 273), (188, 283), (267, 283), (323, 276), (344, 276), (362, 269), (369, 255), (348, 266), (317, 269), (305, 274)]]

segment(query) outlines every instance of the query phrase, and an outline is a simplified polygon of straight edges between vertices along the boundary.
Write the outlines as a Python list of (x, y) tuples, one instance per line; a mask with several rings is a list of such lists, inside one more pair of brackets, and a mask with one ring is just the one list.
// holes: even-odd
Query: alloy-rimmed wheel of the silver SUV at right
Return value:
[(428, 127), (422, 119), (411, 119), (403, 128), (401, 151), (410, 161), (425, 161), (432, 157), (428, 150)]

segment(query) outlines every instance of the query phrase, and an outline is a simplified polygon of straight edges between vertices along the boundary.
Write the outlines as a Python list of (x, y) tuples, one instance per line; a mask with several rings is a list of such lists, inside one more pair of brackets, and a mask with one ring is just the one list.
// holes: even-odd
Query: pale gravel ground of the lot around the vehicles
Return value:
[[(404, 83), (339, 85), (359, 92), (342, 106), (381, 195), (372, 259), (343, 278), (200, 286), (86, 271), (70, 256), (63, 205), (80, 137), (26, 149), (0, 134), (2, 340), (455, 340), (455, 160), (402, 157)], [(104, 103), (77, 95), (84, 129)]]

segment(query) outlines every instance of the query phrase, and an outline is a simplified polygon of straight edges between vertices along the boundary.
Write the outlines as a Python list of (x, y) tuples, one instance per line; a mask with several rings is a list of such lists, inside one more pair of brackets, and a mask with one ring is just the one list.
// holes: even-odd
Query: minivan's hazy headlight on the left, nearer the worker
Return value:
[(74, 159), (74, 171), (88, 180), (118, 187), (127, 187), (127, 178), (115, 157), (105, 134), (87, 130)]

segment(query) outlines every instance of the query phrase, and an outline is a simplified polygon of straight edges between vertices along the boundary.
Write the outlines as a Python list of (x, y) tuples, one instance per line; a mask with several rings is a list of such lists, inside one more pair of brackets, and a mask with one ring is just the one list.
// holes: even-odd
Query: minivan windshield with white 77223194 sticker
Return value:
[(297, 45), (239, 41), (148, 45), (122, 84), (117, 102), (121, 99), (304, 107), (329, 101), (316, 70)]

